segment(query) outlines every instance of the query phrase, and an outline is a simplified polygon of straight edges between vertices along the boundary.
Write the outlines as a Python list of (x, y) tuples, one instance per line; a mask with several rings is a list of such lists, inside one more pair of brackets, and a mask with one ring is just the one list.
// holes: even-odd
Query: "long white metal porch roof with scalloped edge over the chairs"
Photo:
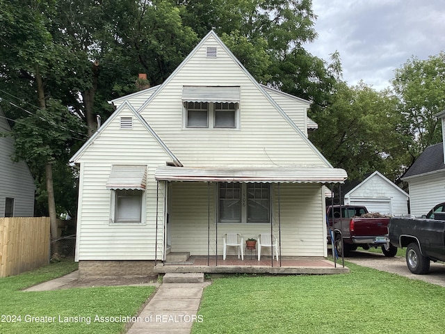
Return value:
[(184, 168), (161, 166), (154, 178), (163, 181), (343, 183), (348, 177), (341, 168)]

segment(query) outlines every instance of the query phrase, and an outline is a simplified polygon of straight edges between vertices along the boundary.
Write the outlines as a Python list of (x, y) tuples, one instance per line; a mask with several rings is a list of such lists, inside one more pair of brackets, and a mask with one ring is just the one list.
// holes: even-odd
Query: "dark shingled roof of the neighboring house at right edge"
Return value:
[(445, 171), (444, 164), (444, 143), (438, 143), (426, 148), (422, 154), (414, 161), (414, 164), (407, 170), (401, 180), (409, 180), (412, 177)]

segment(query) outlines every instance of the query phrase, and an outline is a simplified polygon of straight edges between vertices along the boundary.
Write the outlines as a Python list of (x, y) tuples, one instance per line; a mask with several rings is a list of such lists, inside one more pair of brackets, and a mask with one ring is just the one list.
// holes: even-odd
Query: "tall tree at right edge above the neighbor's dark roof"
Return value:
[(412, 138), (410, 166), (427, 146), (442, 141), (435, 115), (445, 109), (445, 53), (426, 60), (412, 56), (396, 70), (393, 86), (403, 115), (401, 131)]

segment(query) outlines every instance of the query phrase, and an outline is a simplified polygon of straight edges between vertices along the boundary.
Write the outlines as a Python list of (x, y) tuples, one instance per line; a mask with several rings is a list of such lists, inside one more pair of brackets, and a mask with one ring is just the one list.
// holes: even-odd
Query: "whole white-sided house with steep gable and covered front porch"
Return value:
[(71, 159), (82, 276), (131, 260), (149, 270), (170, 252), (223, 255), (225, 232), (273, 229), (282, 256), (327, 255), (323, 184), (346, 171), (308, 140), (309, 102), (258, 84), (216, 33), (163, 84), (112, 103)]

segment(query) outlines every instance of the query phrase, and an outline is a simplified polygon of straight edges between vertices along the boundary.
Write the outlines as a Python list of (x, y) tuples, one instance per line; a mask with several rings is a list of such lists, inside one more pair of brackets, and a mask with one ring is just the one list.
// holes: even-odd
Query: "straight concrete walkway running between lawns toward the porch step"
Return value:
[(210, 283), (163, 283), (127, 334), (189, 334), (202, 291)]

